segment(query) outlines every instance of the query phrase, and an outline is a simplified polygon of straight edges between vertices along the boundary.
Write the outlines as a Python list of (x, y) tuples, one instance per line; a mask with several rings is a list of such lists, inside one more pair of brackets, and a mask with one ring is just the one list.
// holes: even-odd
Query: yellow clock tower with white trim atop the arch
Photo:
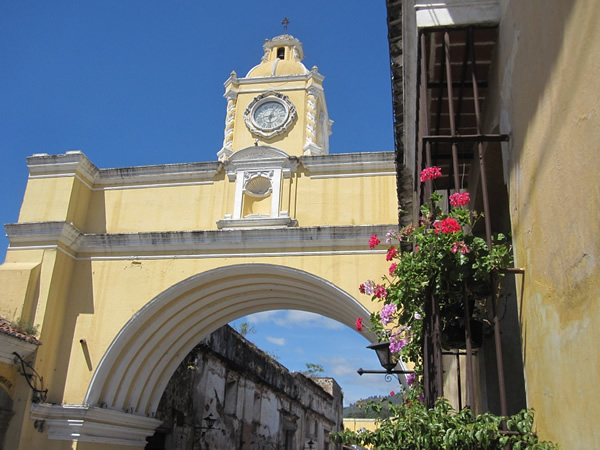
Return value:
[(308, 70), (302, 43), (283, 34), (265, 41), (260, 64), (243, 78), (225, 82), (227, 116), (219, 161), (243, 149), (268, 146), (289, 156), (329, 153), (329, 120), (324, 77)]

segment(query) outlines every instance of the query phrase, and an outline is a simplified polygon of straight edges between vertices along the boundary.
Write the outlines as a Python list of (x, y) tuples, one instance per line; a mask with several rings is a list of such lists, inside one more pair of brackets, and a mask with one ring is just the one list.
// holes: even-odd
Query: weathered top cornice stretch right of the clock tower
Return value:
[(301, 164), (312, 174), (381, 172), (396, 173), (394, 152), (338, 153), (322, 156), (302, 156)]

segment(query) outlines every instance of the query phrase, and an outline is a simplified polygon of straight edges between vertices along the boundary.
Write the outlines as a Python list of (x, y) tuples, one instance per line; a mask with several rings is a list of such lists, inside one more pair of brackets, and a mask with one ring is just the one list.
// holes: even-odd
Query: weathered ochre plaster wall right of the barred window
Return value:
[[(527, 398), (541, 438), (598, 448), (600, 9), (505, 1), (500, 83), (510, 84), (509, 195)], [(512, 65), (512, 67), (511, 67)]]

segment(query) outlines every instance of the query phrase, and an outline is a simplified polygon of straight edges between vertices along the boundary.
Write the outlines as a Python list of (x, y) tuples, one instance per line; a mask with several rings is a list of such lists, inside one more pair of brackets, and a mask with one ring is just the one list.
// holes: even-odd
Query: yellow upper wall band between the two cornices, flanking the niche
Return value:
[[(395, 223), (395, 177), (357, 175), (311, 178), (300, 171), (283, 180), (281, 210), (288, 210), (300, 226)], [(27, 192), (52, 192), (64, 180), (45, 179), (48, 189), (42, 180), (30, 180)], [(233, 213), (235, 181), (221, 175), (209, 184), (91, 191), (75, 180), (64, 184), (60, 193), (70, 201), (61, 200), (55, 208), (38, 209), (37, 201), (27, 200), (22, 221), (66, 220), (87, 233), (215, 230), (218, 220)], [(46, 200), (53, 201), (53, 195)], [(270, 204), (267, 209), (270, 212)]]

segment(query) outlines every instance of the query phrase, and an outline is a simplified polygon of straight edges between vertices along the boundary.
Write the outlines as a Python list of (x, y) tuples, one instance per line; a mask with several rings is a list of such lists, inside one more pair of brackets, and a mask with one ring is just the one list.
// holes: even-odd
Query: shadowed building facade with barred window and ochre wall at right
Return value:
[(503, 372), (504, 409), (533, 408), (539, 436), (563, 448), (597, 448), (600, 9), (560, 0), (387, 5), (397, 149), (415, 211), (420, 170), (458, 166), (463, 184), (445, 189), (468, 190), (478, 210), (487, 202), (491, 230), (512, 234), (504, 370), (496, 349), (484, 348), (480, 407), (502, 412), (500, 375), (490, 374)]

